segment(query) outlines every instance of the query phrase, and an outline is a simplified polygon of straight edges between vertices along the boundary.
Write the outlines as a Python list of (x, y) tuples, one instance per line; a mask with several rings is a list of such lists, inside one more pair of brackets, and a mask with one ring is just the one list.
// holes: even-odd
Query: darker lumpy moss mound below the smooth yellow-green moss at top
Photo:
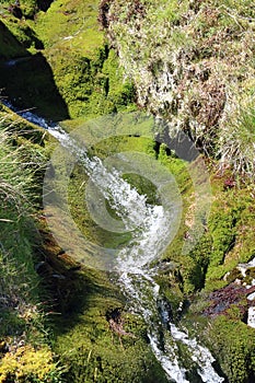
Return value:
[(134, 88), (123, 81), (117, 58), (113, 51), (108, 56), (107, 49), (94, 50), (93, 59), (69, 48), (49, 53), (56, 84), (71, 117), (107, 115), (134, 103)]

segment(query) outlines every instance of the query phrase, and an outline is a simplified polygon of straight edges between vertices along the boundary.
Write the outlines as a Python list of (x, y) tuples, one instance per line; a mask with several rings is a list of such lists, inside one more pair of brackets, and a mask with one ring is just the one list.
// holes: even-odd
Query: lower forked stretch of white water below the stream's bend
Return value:
[(119, 282), (125, 287), (124, 291), (134, 312), (144, 318), (153, 353), (172, 381), (189, 382), (186, 378), (187, 370), (179, 360), (178, 345), (181, 344), (186, 347), (187, 355), (190, 356), (190, 363), (196, 364), (197, 375), (200, 376), (201, 382), (221, 383), (224, 381), (212, 367), (215, 358), (210, 351), (171, 323), (167, 307), (161, 305), (161, 312), (159, 312), (160, 287), (151, 277), (149, 269), (140, 269), (136, 275), (123, 272)]

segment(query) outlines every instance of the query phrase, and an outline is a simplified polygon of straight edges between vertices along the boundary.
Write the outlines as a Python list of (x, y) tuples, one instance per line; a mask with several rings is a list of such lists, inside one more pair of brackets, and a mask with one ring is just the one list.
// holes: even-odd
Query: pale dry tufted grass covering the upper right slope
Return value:
[(138, 103), (169, 120), (166, 134), (183, 129), (222, 167), (253, 177), (251, 2), (103, 0), (100, 20)]

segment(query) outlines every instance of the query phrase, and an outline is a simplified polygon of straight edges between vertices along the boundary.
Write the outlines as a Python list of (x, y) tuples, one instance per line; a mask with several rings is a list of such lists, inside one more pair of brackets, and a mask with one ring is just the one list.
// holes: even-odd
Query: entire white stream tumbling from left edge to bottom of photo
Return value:
[(132, 231), (132, 240), (118, 254), (118, 282), (127, 294), (130, 310), (142, 315), (147, 323), (152, 351), (169, 380), (177, 383), (189, 382), (179, 358), (178, 345), (182, 344), (188, 351), (190, 362), (195, 362), (201, 382), (223, 382), (223, 378), (220, 378), (212, 367), (215, 359), (210, 351), (171, 323), (167, 310), (159, 312), (160, 288), (152, 277), (150, 263), (164, 248), (162, 243), (167, 235), (171, 214), (163, 206), (147, 204), (147, 197), (140, 196), (130, 187), (115, 169), (108, 171), (98, 158), (90, 159), (85, 148), (80, 148), (79, 142), (59, 126), (49, 125), (31, 112), (21, 115), (47, 129), (83, 164), (88, 175), (123, 219), (126, 228)]

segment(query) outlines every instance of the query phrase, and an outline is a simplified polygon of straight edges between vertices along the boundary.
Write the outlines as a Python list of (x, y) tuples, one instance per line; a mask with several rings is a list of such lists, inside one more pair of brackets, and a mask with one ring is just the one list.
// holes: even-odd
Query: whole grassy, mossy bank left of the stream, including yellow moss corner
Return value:
[(124, 307), (116, 287), (70, 259), (34, 221), (54, 142), (5, 108), (0, 135), (0, 381), (166, 382), (140, 318), (123, 312), (131, 334), (123, 339), (109, 328), (112, 312)]

